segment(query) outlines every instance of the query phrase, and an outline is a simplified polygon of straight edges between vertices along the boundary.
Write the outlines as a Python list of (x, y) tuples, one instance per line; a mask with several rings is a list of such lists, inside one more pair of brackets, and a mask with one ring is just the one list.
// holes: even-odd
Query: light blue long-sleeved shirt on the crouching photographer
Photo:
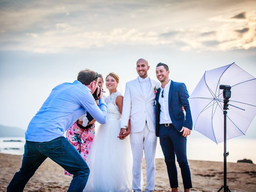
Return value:
[(100, 124), (107, 121), (108, 109), (103, 99), (97, 106), (91, 90), (75, 80), (55, 88), (32, 118), (25, 132), (28, 141), (45, 142), (64, 136), (64, 132), (88, 111)]

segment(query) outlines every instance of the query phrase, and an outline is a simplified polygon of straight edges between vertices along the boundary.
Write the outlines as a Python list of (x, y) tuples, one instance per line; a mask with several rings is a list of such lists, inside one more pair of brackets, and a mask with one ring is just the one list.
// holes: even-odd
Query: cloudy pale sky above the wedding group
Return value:
[[(254, 0), (0, 0), (0, 26), (0, 124), (22, 129), (85, 68), (118, 74), (123, 94), (139, 58), (153, 79), (168, 64), (189, 94), (206, 70), (233, 62), (256, 77)], [(244, 137), (256, 138), (255, 119)]]

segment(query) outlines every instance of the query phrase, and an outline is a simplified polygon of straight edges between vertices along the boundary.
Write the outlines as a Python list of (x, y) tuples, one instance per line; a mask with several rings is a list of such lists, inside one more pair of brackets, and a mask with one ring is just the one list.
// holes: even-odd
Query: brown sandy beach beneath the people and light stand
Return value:
[[(6, 191), (14, 173), (19, 170), (22, 156), (0, 154), (0, 191)], [(223, 185), (223, 163), (190, 160), (193, 188), (192, 192), (216, 192)], [(145, 167), (145, 162), (143, 162)], [(144, 172), (145, 176), (145, 172)], [(183, 191), (180, 170), (178, 170), (179, 191)], [(227, 164), (227, 185), (232, 192), (256, 191), (256, 165), (248, 163)], [(145, 177), (144, 177), (145, 178)], [(68, 189), (70, 176), (49, 158), (39, 167), (29, 180), (25, 192), (62, 192)], [(163, 159), (156, 159), (155, 192), (170, 191), (166, 166)], [(224, 190), (222, 190), (224, 191)]]

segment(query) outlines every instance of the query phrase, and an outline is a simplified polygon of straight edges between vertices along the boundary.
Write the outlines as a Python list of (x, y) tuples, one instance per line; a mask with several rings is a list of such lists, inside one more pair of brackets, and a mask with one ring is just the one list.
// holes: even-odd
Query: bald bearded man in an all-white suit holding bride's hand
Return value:
[(150, 66), (145, 59), (136, 63), (138, 78), (127, 82), (120, 137), (125, 133), (130, 118), (130, 143), (132, 148), (132, 189), (134, 192), (142, 191), (142, 157), (143, 150), (146, 159), (146, 188), (145, 192), (154, 191), (155, 186), (155, 98), (159, 82), (148, 77)]

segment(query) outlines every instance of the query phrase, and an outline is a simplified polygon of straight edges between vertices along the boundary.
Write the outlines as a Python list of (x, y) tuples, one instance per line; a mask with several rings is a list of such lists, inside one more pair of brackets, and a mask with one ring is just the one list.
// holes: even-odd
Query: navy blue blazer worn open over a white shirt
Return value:
[[(159, 137), (159, 127), (160, 127), (160, 104), (158, 102), (160, 95), (160, 88), (157, 90), (156, 94), (156, 136)], [(171, 81), (168, 104), (169, 104), (169, 115), (172, 120), (172, 124), (178, 132), (182, 127), (189, 128), (192, 130), (192, 117), (190, 112), (190, 107), (188, 103), (188, 90), (184, 83)], [(186, 111), (186, 117), (182, 112), (181, 107), (184, 106)]]

